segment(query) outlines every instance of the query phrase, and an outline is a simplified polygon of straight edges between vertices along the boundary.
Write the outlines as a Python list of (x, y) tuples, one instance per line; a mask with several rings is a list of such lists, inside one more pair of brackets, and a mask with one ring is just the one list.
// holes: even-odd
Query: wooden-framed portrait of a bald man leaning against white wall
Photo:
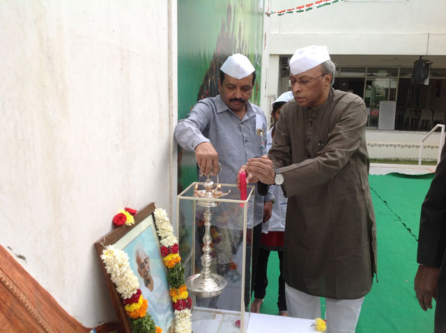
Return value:
[(148, 314), (155, 321), (155, 325), (162, 328), (163, 333), (174, 333), (174, 308), (169, 295), (167, 269), (160, 252), (160, 240), (153, 216), (154, 210), (155, 205), (149, 203), (134, 216), (132, 226), (120, 226), (95, 242), (95, 249), (105, 274), (121, 332), (130, 333), (132, 328), (121, 296), (116, 291), (116, 286), (100, 258), (102, 249), (107, 245), (114, 245), (128, 255), (130, 268), (138, 278), (141, 293), (147, 300)]

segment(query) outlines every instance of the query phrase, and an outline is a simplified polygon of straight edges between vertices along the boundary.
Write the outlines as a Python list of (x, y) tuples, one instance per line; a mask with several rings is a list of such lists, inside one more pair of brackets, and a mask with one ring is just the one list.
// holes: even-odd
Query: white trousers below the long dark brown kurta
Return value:
[[(315, 319), (321, 317), (321, 299), (285, 284), (286, 309), (291, 317)], [(355, 333), (364, 297), (357, 300), (325, 298), (326, 333)]]

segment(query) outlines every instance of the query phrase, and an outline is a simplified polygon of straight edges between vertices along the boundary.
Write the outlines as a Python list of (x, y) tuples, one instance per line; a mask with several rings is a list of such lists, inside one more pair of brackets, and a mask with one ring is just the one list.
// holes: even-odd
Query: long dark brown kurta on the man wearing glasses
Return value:
[(304, 293), (356, 299), (376, 272), (364, 101), (331, 88), (319, 107), (284, 105), (268, 156), (284, 176), (284, 279)]

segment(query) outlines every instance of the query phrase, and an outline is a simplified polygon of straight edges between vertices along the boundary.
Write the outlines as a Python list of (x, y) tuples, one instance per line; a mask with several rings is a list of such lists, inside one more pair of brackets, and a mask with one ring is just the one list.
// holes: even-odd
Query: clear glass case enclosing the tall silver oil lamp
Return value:
[[(194, 333), (244, 333), (251, 301), (254, 186), (192, 183), (178, 195), (178, 240)], [(246, 199), (243, 199), (246, 198)]]

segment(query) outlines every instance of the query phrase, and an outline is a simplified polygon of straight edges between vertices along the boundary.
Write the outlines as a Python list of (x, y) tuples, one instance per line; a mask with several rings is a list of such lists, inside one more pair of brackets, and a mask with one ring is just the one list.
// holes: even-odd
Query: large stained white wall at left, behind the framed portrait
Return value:
[(114, 320), (93, 242), (176, 192), (175, 3), (0, 3), (0, 244), (84, 326)]

